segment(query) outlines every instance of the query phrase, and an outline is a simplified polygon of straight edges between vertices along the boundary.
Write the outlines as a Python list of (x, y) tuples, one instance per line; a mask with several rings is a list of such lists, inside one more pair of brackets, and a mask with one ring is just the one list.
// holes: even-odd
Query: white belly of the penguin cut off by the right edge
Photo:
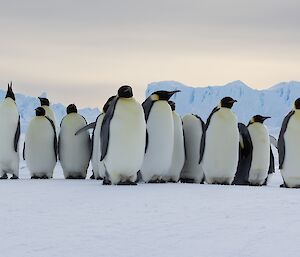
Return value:
[(289, 187), (300, 186), (300, 114), (296, 112), (284, 134), (285, 159), (281, 175)]

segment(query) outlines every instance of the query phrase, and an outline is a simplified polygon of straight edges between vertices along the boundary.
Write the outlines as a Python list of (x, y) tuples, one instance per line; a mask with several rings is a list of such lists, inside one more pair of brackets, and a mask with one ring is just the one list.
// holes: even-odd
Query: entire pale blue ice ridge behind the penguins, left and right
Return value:
[[(293, 102), (300, 97), (300, 82), (290, 81), (279, 83), (269, 89), (257, 90), (248, 87), (242, 81), (234, 81), (224, 86), (190, 87), (175, 81), (153, 82), (148, 85), (146, 96), (156, 90), (181, 90), (181, 93), (173, 96), (177, 104), (177, 112), (180, 115), (195, 113), (207, 119), (209, 113), (224, 96), (231, 96), (238, 102), (233, 111), (237, 114), (239, 121), (248, 123), (251, 116), (255, 114), (268, 115), (272, 118), (267, 120), (266, 125), (275, 133), (281, 126), (284, 116), (290, 111)], [(0, 90), (0, 101), (5, 97), (6, 91)], [(47, 96), (42, 93), (41, 96)], [(51, 101), (51, 99), (50, 99)], [(16, 94), (16, 102), (21, 116), (21, 129), (25, 132), (34, 109), (39, 106), (39, 100), (35, 97)], [(60, 103), (52, 104), (57, 121), (66, 115), (66, 107)], [(99, 115), (97, 108), (80, 109), (88, 122), (95, 121)]]

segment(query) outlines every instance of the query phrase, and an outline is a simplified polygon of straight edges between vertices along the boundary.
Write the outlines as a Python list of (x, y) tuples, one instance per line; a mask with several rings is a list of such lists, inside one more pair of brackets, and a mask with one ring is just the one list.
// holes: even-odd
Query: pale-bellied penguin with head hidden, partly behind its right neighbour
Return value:
[(203, 183), (204, 171), (202, 163), (199, 163), (199, 154), (205, 124), (203, 120), (195, 114), (185, 115), (182, 121), (186, 159), (180, 180), (183, 183)]

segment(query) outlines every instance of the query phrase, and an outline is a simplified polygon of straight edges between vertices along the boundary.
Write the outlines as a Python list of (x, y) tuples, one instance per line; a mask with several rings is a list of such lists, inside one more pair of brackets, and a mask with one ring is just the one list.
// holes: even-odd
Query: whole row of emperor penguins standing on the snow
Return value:
[[(66, 179), (91, 178), (106, 185), (145, 183), (267, 184), (275, 172), (271, 144), (278, 149), (283, 187), (300, 187), (300, 98), (284, 118), (278, 141), (255, 115), (246, 126), (231, 108), (237, 102), (221, 99), (206, 123), (197, 115), (182, 119), (170, 98), (179, 93), (156, 91), (143, 104), (130, 86), (110, 97), (96, 121), (87, 124), (74, 104), (56, 124), (47, 98), (28, 126), (23, 158), (32, 179), (49, 179), (59, 159)], [(20, 116), (12, 84), (0, 104), (0, 178), (19, 178)], [(93, 130), (90, 138), (89, 129)], [(58, 136), (57, 136), (58, 135)]]

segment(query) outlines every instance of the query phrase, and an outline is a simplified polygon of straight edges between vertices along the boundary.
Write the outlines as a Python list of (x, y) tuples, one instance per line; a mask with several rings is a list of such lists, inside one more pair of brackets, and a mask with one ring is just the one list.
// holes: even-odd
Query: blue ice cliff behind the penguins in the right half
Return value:
[(175, 81), (154, 82), (148, 85), (146, 96), (156, 90), (175, 89), (181, 90), (181, 93), (173, 96), (180, 115), (195, 113), (206, 120), (221, 98), (231, 96), (238, 101), (233, 111), (239, 121), (248, 123), (256, 114), (271, 116), (266, 125), (275, 134), (278, 133), (284, 116), (293, 107), (294, 101), (300, 97), (300, 82), (297, 81), (282, 82), (269, 89), (257, 90), (239, 80), (224, 86), (208, 87), (190, 87)]

